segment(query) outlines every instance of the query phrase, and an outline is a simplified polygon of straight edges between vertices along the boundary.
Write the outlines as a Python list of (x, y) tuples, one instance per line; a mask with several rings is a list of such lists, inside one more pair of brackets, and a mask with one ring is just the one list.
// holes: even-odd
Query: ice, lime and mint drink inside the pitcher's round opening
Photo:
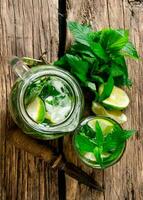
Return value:
[(73, 92), (56, 76), (43, 76), (32, 82), (25, 92), (28, 115), (43, 126), (62, 123), (73, 111)]

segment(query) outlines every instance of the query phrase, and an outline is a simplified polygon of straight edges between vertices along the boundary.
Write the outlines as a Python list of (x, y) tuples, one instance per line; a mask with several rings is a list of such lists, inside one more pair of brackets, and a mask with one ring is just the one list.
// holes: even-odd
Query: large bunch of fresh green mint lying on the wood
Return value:
[[(105, 84), (102, 100), (109, 97), (113, 86), (131, 86), (125, 57), (138, 59), (128, 30), (103, 29), (93, 31), (87, 25), (67, 23), (74, 42), (54, 65), (70, 71), (98, 99), (98, 87)], [(99, 99), (99, 100), (101, 100)]]

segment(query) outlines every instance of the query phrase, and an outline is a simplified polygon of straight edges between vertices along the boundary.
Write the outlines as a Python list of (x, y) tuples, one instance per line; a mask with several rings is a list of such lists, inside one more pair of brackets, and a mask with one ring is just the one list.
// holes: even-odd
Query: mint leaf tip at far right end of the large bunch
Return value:
[(139, 55), (131, 42), (128, 42), (124, 48), (121, 50), (121, 54), (124, 56), (129, 56), (133, 59), (138, 59)]

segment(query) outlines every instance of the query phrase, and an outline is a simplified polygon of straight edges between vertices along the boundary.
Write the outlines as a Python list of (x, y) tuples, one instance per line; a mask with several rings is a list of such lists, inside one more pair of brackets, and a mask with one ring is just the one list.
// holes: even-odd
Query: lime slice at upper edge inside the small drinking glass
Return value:
[(111, 133), (113, 131), (115, 122), (113, 122), (110, 119), (104, 119), (102, 117), (95, 117), (94, 119), (92, 119), (88, 122), (88, 125), (93, 130), (95, 130), (95, 125), (96, 125), (97, 121), (98, 121), (104, 135), (107, 135), (108, 133)]

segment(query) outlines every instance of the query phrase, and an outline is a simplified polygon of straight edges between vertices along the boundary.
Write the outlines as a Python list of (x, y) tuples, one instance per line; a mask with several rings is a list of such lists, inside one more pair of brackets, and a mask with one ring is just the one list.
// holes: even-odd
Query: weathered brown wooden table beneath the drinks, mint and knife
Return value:
[(44, 161), (7, 143), (13, 121), (8, 98), (14, 74), (8, 66), (12, 55), (38, 58), (47, 51), (49, 62), (64, 53), (65, 16), (103, 27), (127, 28), (142, 55), (142, 0), (0, 0), (0, 200), (142, 200), (143, 199), (143, 66), (128, 61), (134, 84), (126, 128), (138, 130), (122, 160), (104, 171), (86, 167), (75, 156), (71, 136), (54, 141), (69, 161), (80, 166), (105, 186), (98, 193), (62, 173), (52, 172)]

